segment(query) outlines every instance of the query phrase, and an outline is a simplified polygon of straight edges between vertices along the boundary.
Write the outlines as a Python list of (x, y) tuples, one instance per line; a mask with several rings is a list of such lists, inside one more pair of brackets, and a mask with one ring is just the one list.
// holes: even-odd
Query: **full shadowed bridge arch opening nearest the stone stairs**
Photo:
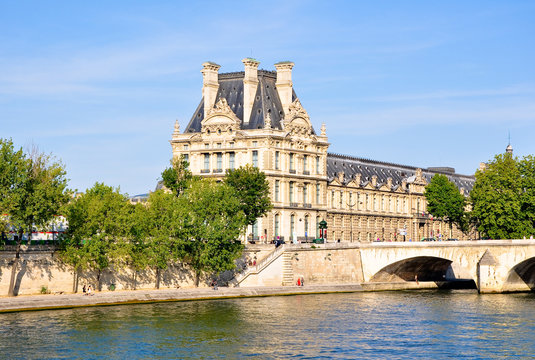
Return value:
[[(436, 256), (416, 256), (398, 260), (375, 273), (370, 282), (474, 281), (466, 269), (452, 260)], [(475, 287), (475, 282), (473, 282)]]

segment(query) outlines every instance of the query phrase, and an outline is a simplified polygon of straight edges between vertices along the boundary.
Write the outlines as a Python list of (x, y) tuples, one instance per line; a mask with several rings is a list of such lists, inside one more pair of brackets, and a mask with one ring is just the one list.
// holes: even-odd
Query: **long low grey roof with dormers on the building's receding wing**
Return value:
[[(397, 189), (403, 180), (411, 183), (416, 178), (414, 166), (393, 164), (388, 162), (357, 158), (340, 154), (327, 154), (327, 178), (329, 182), (338, 178), (338, 174), (344, 173), (343, 184), (348, 184), (355, 175), (361, 174), (360, 185), (364, 186), (371, 182), (372, 177), (377, 176), (377, 188), (387, 184), (388, 178), (392, 179), (392, 190)], [(475, 177), (471, 175), (456, 174), (455, 169), (448, 167), (422, 169), (422, 176), (429, 183), (435, 174), (446, 175), (459, 189), (463, 188), (466, 193), (472, 190)]]

